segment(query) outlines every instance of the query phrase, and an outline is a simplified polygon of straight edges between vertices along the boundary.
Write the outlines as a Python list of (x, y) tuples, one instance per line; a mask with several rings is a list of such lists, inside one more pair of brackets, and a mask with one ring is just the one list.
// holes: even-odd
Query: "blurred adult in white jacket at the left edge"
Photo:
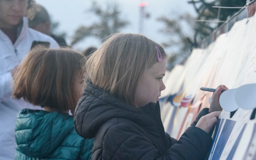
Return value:
[(17, 66), (33, 41), (59, 47), (52, 37), (28, 27), (26, 15), (32, 16), (33, 4), (33, 0), (0, 0), (0, 160), (14, 159), (17, 113), (23, 108), (35, 108), (23, 99), (12, 98)]

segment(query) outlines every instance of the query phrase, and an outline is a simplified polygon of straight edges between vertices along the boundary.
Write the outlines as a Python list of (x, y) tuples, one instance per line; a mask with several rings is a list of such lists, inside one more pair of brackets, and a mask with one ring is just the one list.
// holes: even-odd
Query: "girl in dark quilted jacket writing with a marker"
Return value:
[[(220, 111), (204, 109), (179, 140), (164, 131), (158, 97), (167, 55), (140, 34), (114, 34), (84, 65), (86, 86), (75, 128), (95, 138), (92, 160), (204, 160)], [(224, 87), (224, 86), (220, 86)], [(217, 90), (210, 108), (220, 108)], [(201, 117), (201, 119), (200, 119)], [(200, 119), (200, 120), (199, 120)]]

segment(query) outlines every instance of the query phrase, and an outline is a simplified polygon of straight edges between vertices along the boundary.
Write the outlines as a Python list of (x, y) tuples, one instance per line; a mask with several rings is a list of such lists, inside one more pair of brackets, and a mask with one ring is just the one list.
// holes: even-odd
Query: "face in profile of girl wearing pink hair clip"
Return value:
[(135, 92), (134, 103), (137, 107), (143, 107), (149, 102), (159, 100), (158, 97), (161, 96), (161, 91), (166, 88), (163, 84), (166, 61), (166, 59), (163, 59), (162, 62), (157, 62), (145, 70)]

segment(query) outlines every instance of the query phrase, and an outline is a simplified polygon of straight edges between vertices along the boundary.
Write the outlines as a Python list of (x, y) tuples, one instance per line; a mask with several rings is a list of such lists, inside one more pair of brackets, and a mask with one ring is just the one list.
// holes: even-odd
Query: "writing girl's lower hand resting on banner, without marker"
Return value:
[(218, 124), (218, 116), (220, 114), (221, 111), (216, 111), (202, 116), (195, 126), (209, 134), (212, 128)]

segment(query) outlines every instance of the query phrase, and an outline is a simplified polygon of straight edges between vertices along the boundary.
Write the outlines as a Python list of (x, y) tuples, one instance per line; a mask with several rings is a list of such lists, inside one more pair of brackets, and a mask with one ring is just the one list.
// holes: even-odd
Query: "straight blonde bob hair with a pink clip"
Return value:
[(145, 69), (157, 63), (157, 50), (166, 52), (156, 42), (140, 34), (117, 33), (87, 59), (86, 81), (133, 105), (135, 91)]

